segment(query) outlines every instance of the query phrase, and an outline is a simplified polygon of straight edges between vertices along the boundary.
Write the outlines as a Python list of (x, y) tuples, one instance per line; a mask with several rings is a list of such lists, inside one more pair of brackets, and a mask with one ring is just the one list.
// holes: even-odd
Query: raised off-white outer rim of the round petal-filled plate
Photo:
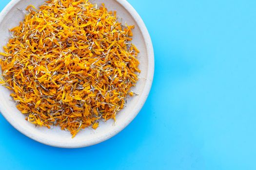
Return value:
[[(154, 50), (153, 50), (153, 44), (151, 41), (151, 37), (149, 35), (149, 32), (146, 28), (146, 25), (144, 24), (142, 18), (138, 15), (137, 11), (133, 8), (133, 6), (127, 1), (127, 0), (115, 0), (117, 1), (121, 6), (123, 6), (128, 13), (133, 17), (135, 22), (138, 24), (138, 28), (144, 38), (145, 44), (146, 44), (146, 52), (148, 54), (148, 72), (147, 72), (147, 77), (146, 77), (146, 83), (143, 89), (143, 92), (140, 94), (139, 98), (139, 104), (137, 104), (134, 108), (134, 113), (131, 114), (129, 119), (127, 119), (125, 122), (123, 122), (118, 129), (115, 128), (112, 130), (111, 133), (101, 136), (96, 138), (95, 140), (90, 140), (90, 141), (83, 141), (78, 144), (67, 144), (67, 143), (59, 143), (55, 142), (53, 140), (45, 140), (43, 137), (40, 137), (39, 135), (32, 134), (29, 131), (27, 131), (25, 128), (17, 125), (15, 123), (14, 119), (11, 119), (11, 117), (8, 116), (7, 111), (1, 108), (0, 105), (0, 113), (3, 115), (3, 117), (15, 128), (17, 129), (20, 133), (23, 135), (36, 140), (40, 143), (43, 143), (45, 145), (53, 146), (53, 147), (59, 147), (59, 148), (82, 148), (82, 147), (87, 147), (91, 145), (98, 144), (100, 142), (103, 142), (115, 135), (117, 135), (120, 131), (122, 131), (130, 122), (138, 115), (139, 111), (141, 110), (142, 106), (146, 102), (146, 99), (149, 95), (152, 83), (153, 83), (153, 78), (154, 78), (154, 69), (155, 69), (155, 62), (154, 62)], [(0, 23), (3, 21), (3, 19), (6, 17), (8, 12), (18, 3), (20, 0), (11, 0), (5, 7), (4, 9), (0, 12)]]

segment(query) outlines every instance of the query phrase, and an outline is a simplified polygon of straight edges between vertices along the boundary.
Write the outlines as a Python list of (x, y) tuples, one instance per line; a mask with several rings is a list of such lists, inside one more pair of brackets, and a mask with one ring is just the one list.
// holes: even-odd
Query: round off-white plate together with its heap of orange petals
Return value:
[(150, 92), (152, 42), (126, 0), (12, 0), (0, 37), (0, 112), (43, 144), (107, 140)]

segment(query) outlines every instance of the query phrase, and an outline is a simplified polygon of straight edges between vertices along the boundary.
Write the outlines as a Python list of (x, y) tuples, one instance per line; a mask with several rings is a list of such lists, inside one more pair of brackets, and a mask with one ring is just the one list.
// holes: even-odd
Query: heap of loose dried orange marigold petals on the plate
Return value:
[(30, 5), (0, 55), (2, 85), (26, 119), (74, 136), (115, 119), (140, 72), (132, 29), (88, 0)]

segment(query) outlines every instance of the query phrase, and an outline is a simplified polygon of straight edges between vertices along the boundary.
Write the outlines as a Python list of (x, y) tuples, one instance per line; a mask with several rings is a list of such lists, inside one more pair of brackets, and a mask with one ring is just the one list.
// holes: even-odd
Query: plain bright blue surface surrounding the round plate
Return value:
[(0, 169), (256, 170), (256, 1), (128, 1), (156, 62), (136, 119), (71, 150), (31, 140), (0, 116)]

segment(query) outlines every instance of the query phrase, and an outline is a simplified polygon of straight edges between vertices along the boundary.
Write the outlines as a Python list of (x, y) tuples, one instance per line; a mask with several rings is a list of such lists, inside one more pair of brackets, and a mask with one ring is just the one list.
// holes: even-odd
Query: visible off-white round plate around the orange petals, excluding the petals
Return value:
[[(44, 0), (12, 0), (0, 13), (0, 51), (6, 45), (10, 32), (9, 29), (18, 26), (24, 18), (20, 11), (29, 4), (40, 6)], [(59, 127), (47, 129), (45, 127), (35, 127), (35, 125), (25, 120), (25, 116), (16, 108), (16, 103), (10, 97), (10, 90), (0, 85), (0, 112), (17, 130), (22, 134), (55, 147), (79, 148), (97, 144), (116, 135), (124, 129), (138, 114), (149, 94), (154, 75), (154, 51), (150, 35), (139, 17), (136, 10), (126, 0), (91, 0), (92, 3), (105, 3), (108, 10), (117, 11), (117, 15), (122, 22), (135, 25), (133, 30), (133, 43), (140, 50), (139, 61), (140, 79), (133, 91), (138, 96), (129, 98), (127, 106), (117, 114), (117, 122), (108, 120), (100, 122), (96, 130), (86, 128), (81, 130), (75, 138), (71, 138), (69, 132), (61, 131)], [(138, 127), (139, 128), (139, 127)]]

